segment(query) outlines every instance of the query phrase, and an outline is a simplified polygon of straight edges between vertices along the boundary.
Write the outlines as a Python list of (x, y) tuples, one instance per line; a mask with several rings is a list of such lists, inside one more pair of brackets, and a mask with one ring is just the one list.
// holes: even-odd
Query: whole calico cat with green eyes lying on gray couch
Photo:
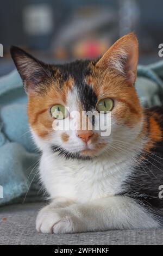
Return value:
[[(51, 198), (36, 229), (161, 227), (163, 108), (143, 109), (137, 97), (136, 35), (123, 36), (93, 61), (47, 65), (15, 46), (11, 56), (28, 95), (29, 125), (42, 151), (40, 177)], [(73, 121), (74, 110), (96, 111), (102, 122), (109, 111), (110, 136), (93, 129), (87, 115), (92, 130), (55, 130), (55, 122)]]

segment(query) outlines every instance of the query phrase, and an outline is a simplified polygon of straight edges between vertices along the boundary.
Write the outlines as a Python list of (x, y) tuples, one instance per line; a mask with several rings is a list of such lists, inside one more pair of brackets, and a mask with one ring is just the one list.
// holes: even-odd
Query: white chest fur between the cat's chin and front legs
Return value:
[(112, 164), (107, 159), (65, 160), (43, 153), (40, 174), (51, 198), (66, 197), (89, 202), (120, 192), (123, 180), (131, 172), (130, 166), (130, 161), (114, 160)]

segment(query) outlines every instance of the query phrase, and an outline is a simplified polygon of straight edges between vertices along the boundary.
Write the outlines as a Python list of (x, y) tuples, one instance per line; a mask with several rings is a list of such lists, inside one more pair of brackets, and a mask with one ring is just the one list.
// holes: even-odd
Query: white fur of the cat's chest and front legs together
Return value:
[[(38, 139), (38, 138), (37, 138)], [(130, 151), (130, 152), (129, 152)], [(120, 228), (155, 228), (159, 224), (146, 210), (128, 197), (115, 196), (132, 172), (135, 153), (130, 158), (117, 152), (92, 161), (65, 160), (46, 149), (40, 162), (41, 180), (52, 203), (36, 220), (42, 233), (73, 233)], [(133, 155), (133, 156), (131, 156)]]

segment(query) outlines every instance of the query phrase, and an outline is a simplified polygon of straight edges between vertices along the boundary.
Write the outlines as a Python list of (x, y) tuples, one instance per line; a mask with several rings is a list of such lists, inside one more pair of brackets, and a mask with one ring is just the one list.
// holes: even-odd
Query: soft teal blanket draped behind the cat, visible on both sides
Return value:
[[(145, 107), (161, 105), (163, 62), (138, 66), (136, 90)], [(27, 120), (27, 96), (16, 70), (0, 78), (0, 205), (42, 199), (40, 154)]]

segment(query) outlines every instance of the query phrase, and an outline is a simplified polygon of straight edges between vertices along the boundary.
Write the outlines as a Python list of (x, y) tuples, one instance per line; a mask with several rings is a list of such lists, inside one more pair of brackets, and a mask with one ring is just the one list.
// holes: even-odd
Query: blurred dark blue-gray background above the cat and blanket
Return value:
[(0, 0), (0, 76), (14, 69), (16, 45), (49, 63), (96, 58), (134, 31), (140, 64), (153, 63), (163, 43), (162, 0)]

